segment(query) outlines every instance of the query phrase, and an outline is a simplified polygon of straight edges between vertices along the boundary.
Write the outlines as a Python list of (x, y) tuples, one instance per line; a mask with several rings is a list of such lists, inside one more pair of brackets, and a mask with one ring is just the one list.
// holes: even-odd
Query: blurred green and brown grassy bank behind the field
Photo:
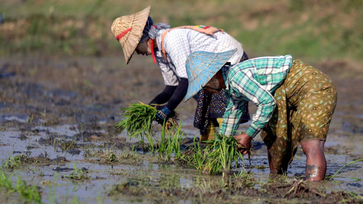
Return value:
[(122, 56), (111, 24), (147, 5), (155, 23), (223, 28), (252, 57), (362, 61), (363, 0), (1, 0), (0, 56)]

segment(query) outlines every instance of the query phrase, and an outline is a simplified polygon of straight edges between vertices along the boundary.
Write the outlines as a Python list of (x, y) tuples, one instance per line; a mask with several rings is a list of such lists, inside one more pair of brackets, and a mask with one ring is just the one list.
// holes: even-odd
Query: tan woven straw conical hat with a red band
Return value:
[(111, 30), (120, 42), (126, 64), (129, 63), (136, 46), (142, 37), (142, 31), (149, 17), (151, 7), (129, 16), (121, 16), (114, 20)]

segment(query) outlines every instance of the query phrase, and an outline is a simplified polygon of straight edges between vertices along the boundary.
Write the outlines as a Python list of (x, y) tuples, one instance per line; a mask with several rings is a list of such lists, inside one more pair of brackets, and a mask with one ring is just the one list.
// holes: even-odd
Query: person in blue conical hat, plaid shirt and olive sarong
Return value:
[[(296, 149), (306, 155), (306, 180), (323, 180), (324, 143), (337, 102), (333, 81), (324, 73), (290, 55), (260, 57), (234, 66), (226, 62), (237, 50), (194, 52), (186, 62), (189, 86), (186, 100), (200, 89), (225, 89), (227, 110), (220, 133), (233, 136), (248, 101), (257, 106), (252, 122), (237, 135), (242, 154), (258, 132), (268, 148), (272, 173), (286, 172)], [(224, 66), (225, 65), (225, 66)]]

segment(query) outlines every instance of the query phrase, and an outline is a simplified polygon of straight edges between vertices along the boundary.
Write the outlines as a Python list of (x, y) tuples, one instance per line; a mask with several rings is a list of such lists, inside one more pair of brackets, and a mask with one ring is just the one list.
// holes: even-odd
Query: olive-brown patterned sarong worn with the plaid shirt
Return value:
[(293, 60), (274, 98), (277, 106), (261, 137), (272, 155), (273, 166), (281, 171), (292, 162), (302, 142), (326, 140), (337, 91), (324, 73)]

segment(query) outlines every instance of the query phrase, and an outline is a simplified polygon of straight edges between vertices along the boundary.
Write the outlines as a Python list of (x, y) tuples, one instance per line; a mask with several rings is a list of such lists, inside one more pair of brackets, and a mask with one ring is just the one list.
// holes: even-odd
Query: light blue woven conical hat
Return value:
[(237, 48), (221, 53), (204, 51), (191, 53), (185, 63), (189, 81), (185, 101), (198, 93), (236, 52)]

